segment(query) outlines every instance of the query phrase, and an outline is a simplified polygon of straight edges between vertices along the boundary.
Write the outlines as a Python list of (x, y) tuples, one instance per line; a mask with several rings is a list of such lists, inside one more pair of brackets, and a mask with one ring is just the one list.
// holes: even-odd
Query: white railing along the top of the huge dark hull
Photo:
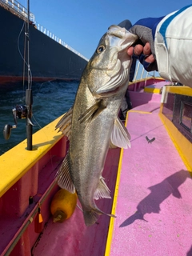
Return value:
[[(0, 0), (2, 6), (5, 6), (12, 10), (14, 13), (18, 14), (22, 18), (28, 18), (28, 11), (25, 6), (22, 6), (17, 0)], [(51, 33), (49, 30), (46, 30), (45, 27), (41, 26), (37, 22), (35, 22), (34, 14), (30, 13), (30, 22), (34, 24), (34, 26), (41, 31), (43, 34), (46, 34), (48, 37), (52, 38), (54, 41), (58, 42), (60, 45), (66, 47), (67, 49), (77, 54), (79, 57), (84, 58), (86, 61), (89, 61), (88, 58), (80, 54), (77, 50), (74, 50), (71, 46), (69, 46), (66, 42), (62, 41), (61, 38), (58, 38), (56, 35)]]

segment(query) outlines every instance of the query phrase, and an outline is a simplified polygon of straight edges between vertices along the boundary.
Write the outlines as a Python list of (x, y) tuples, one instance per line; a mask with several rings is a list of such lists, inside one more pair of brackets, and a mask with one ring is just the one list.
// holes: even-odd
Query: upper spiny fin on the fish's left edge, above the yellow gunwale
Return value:
[(72, 121), (73, 107), (70, 108), (66, 114), (59, 120), (55, 126), (55, 130), (61, 131), (62, 134), (66, 135), (70, 139), (71, 121)]

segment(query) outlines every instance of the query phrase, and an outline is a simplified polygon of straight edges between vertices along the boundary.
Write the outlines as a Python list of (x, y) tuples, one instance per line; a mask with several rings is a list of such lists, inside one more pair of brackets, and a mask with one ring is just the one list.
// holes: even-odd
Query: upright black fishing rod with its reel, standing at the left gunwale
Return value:
[(25, 37), (27, 39), (27, 81), (28, 88), (26, 89), (26, 105), (16, 105), (12, 110), (14, 116), (14, 125), (6, 124), (4, 126), (3, 135), (6, 140), (10, 138), (11, 130), (17, 128), (18, 122), (17, 118), (23, 119), (26, 118), (26, 141), (27, 141), (27, 150), (32, 150), (32, 134), (33, 134), (33, 122), (32, 118), (32, 105), (33, 105), (33, 94), (31, 90), (30, 82), (30, 0), (27, 1), (27, 26)]

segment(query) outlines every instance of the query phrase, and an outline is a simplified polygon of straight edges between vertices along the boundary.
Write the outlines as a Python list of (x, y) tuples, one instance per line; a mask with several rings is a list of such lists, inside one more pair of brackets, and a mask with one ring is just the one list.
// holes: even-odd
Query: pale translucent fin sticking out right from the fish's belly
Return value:
[(130, 147), (130, 134), (119, 118), (114, 120), (114, 129), (110, 135), (110, 142), (114, 146), (127, 149)]

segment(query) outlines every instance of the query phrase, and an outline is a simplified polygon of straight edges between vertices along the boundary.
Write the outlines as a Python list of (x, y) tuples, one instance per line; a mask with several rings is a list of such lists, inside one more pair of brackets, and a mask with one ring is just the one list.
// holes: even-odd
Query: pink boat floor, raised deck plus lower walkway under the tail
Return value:
[[(53, 254), (55, 248), (61, 255), (79, 256), (192, 255), (192, 181), (159, 116), (161, 95), (130, 91), (130, 98), (134, 108), (127, 115), (126, 126), (131, 149), (122, 150), (119, 166), (119, 151), (110, 150), (103, 173), (114, 194), (112, 208), (117, 218), (102, 215), (88, 228), (78, 209), (65, 225), (50, 218), (33, 255)], [(146, 136), (154, 140), (149, 142)], [(112, 204), (104, 199), (97, 203), (106, 212)], [(106, 239), (103, 234), (109, 221)]]

